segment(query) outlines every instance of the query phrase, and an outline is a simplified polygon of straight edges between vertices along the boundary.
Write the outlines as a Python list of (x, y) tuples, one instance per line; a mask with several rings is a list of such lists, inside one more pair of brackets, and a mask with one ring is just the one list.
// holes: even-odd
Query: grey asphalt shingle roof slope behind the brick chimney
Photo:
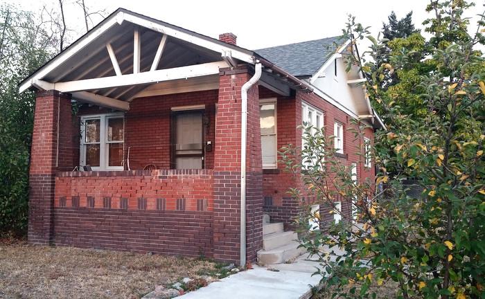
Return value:
[(344, 39), (340, 36), (326, 37), (308, 42), (262, 48), (254, 52), (295, 77), (299, 77), (315, 74), (335, 52), (335, 44), (344, 44)]

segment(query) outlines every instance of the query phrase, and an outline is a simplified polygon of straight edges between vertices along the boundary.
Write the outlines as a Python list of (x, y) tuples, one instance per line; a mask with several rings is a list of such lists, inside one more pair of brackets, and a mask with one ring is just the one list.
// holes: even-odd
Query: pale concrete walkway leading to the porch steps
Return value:
[[(295, 261), (296, 262), (296, 261)], [(303, 266), (298, 262), (294, 266)], [(283, 264), (281, 264), (283, 265)], [(297, 267), (292, 271), (291, 265), (287, 269), (270, 271), (265, 267), (254, 266), (254, 269), (243, 271), (218, 282), (212, 282), (207, 287), (198, 289), (183, 296), (181, 299), (299, 299), (310, 298), (310, 285), (318, 284), (319, 276), (313, 276), (315, 262), (306, 267)], [(276, 265), (268, 265), (269, 269), (277, 269)], [(298, 271), (305, 269), (306, 271)], [(308, 269), (312, 269), (309, 271)]]

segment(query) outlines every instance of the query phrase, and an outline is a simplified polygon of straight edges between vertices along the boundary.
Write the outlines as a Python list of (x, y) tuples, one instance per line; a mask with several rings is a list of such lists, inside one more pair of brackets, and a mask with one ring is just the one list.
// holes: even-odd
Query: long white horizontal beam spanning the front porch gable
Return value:
[(181, 66), (173, 69), (161, 69), (157, 71), (134, 73), (121, 76), (109, 76), (69, 82), (46, 82), (44, 80), (31, 80), (33, 86), (49, 90), (55, 89), (60, 92), (69, 93), (73, 91), (87, 91), (93, 89), (105, 89), (112, 87), (123, 87), (136, 84), (150, 84), (183, 78), (193, 78), (204, 75), (215, 75), (220, 68), (227, 67), (226, 62), (209, 62), (191, 66)]

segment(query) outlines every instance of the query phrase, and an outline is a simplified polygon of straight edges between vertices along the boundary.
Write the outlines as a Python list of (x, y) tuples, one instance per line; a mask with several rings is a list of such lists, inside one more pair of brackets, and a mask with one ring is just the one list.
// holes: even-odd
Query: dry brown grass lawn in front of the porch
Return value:
[(184, 257), (0, 244), (0, 298), (141, 298), (156, 285), (218, 267)]

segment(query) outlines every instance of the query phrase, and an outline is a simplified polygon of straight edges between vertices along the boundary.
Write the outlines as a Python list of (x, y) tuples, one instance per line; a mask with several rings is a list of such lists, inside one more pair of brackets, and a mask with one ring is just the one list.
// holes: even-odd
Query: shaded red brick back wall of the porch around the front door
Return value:
[[(125, 159), (130, 147), (130, 169), (143, 170), (148, 164), (155, 164), (158, 169), (170, 169), (171, 107), (205, 105), (205, 113), (209, 116), (210, 124), (209, 130), (204, 130), (204, 139), (214, 141), (217, 101), (218, 90), (135, 98), (130, 103), (130, 110), (125, 113)], [(108, 112), (107, 109), (97, 107), (82, 107), (78, 115)], [(79, 132), (79, 125), (76, 125), (75, 132)], [(77, 146), (79, 147), (79, 144)], [(79, 156), (76, 158), (76, 163), (79, 163)], [(206, 169), (213, 168), (213, 151), (205, 153), (204, 163)]]

